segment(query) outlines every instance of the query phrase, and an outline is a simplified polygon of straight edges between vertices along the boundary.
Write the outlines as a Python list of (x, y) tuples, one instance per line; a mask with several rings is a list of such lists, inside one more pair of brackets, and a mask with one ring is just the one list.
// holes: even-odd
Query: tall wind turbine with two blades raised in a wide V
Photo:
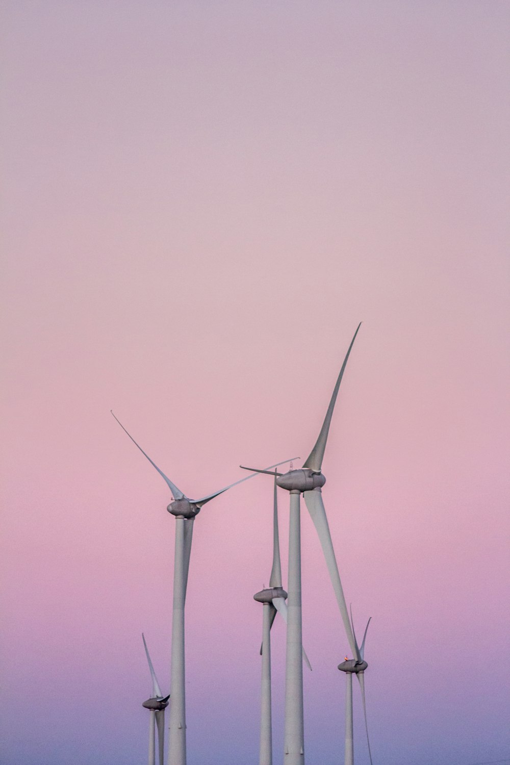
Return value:
[[(188, 571), (190, 570), (191, 540), (193, 536), (193, 521), (195, 516), (200, 513), (200, 509), (215, 496), (223, 494), (238, 483), (252, 478), (241, 478), (229, 486), (215, 491), (212, 494), (206, 494), (200, 500), (191, 500), (180, 489), (177, 488), (170, 478), (168, 478), (151, 457), (145, 453), (130, 433), (125, 429), (122, 422), (113, 417), (122, 430), (131, 438), (132, 442), (147, 457), (161, 477), (166, 481), (167, 486), (172, 493), (172, 501), (167, 506), (167, 510), (175, 516), (175, 555), (174, 555), (174, 601), (172, 609), (172, 648), (171, 648), (171, 681), (170, 693), (172, 703), (170, 707), (170, 719), (168, 721), (168, 765), (186, 765), (186, 698), (184, 692), (184, 604), (186, 602), (186, 590)], [(295, 459), (295, 457), (294, 457)], [(288, 460), (270, 465), (278, 467)]]

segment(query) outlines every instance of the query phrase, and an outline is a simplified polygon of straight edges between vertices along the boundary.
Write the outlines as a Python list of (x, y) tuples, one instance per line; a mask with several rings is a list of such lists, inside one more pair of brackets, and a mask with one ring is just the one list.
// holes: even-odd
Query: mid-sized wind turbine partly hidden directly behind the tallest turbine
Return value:
[[(291, 465), (292, 467), (292, 465)], [(271, 723), (271, 627), (278, 611), (287, 622), (287, 593), (281, 586), (281, 562), (280, 562), (280, 539), (278, 535), (278, 497), (276, 485), (276, 472), (274, 473), (274, 500), (273, 500), (273, 565), (269, 588), (255, 593), (254, 600), (264, 604), (262, 616), (262, 676), (261, 676), (261, 720), (260, 720), (260, 747), (259, 765), (272, 765), (272, 723)], [(308, 657), (303, 650), (303, 658), (309, 669), (312, 669)]]

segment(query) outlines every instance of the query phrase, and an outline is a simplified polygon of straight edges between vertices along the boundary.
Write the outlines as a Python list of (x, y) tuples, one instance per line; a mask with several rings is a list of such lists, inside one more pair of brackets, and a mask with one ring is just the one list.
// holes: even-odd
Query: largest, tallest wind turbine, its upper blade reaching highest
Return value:
[[(359, 327), (361, 327), (361, 322), (354, 333), (354, 337), (352, 337), (349, 350), (347, 350), (346, 357), (343, 360), (319, 437), (309, 457), (307, 457), (307, 461), (300, 470), (288, 470), (287, 473), (277, 474), (277, 485), (282, 489), (286, 489), (291, 494), (287, 578), (287, 653), (285, 662), (285, 765), (303, 765), (304, 763), (303, 666), (301, 662), (303, 651), (301, 615), (301, 493), (304, 493), (304, 501), (307, 504), (308, 512), (319, 535), (320, 545), (326, 559), (326, 566), (330, 573), (330, 579), (333, 584), (333, 590), (336, 595), (349, 646), (352, 649), (352, 654), (357, 656), (356, 642), (349, 621), (345, 597), (343, 596), (342, 583), (336, 565), (333, 542), (331, 541), (330, 527), (328, 526), (326, 510), (322, 500), (321, 488), (326, 483), (326, 478), (321, 472), (321, 467), (324, 451), (326, 451), (326, 441), (330, 431), (336, 396), (338, 396), (340, 382), (342, 382), (349, 353), (351, 352), (354, 340), (356, 340)], [(245, 469), (255, 470), (257, 473), (269, 472), (268, 470), (257, 470), (254, 468)]]

